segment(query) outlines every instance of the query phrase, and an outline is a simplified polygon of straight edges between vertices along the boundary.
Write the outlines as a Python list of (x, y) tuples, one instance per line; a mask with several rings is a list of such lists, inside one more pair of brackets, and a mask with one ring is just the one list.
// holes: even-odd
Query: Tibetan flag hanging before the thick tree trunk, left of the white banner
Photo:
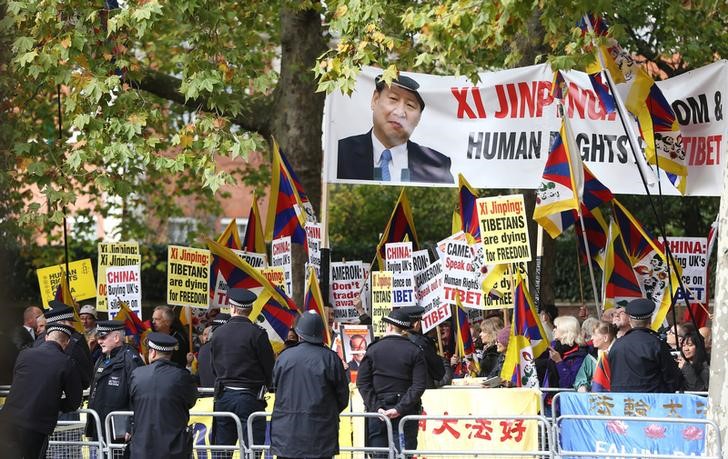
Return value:
[(291, 236), (291, 241), (306, 245), (306, 230), (304, 229), (306, 211), (275, 140), (273, 141), (267, 219), (266, 240), (271, 241)]

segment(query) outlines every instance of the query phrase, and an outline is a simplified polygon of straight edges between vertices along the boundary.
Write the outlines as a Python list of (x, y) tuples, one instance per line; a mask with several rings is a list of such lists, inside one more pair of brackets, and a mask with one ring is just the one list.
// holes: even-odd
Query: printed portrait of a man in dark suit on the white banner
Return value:
[(420, 85), (400, 75), (390, 86), (375, 79), (373, 127), (339, 140), (337, 178), (453, 183), (450, 158), (409, 140), (425, 108)]

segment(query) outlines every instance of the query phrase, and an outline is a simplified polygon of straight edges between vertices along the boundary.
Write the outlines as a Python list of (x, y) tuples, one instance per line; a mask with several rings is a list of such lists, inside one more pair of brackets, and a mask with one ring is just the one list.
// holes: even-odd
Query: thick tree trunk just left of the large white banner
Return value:
[[(321, 122), (324, 94), (316, 92), (313, 67), (326, 49), (321, 16), (313, 9), (281, 7), (281, 74), (273, 113), (273, 133), (301, 180), (311, 204), (321, 202)], [(318, 210), (318, 209), (317, 209)], [(319, 210), (320, 215), (320, 210)], [(293, 249), (293, 298), (302, 304), (303, 247)]]

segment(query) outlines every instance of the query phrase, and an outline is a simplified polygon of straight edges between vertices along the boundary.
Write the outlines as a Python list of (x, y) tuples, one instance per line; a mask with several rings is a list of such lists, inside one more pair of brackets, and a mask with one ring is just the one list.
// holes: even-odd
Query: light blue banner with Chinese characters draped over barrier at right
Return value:
[[(705, 419), (707, 399), (690, 394), (561, 393), (560, 414)], [(705, 451), (705, 424), (563, 420), (565, 451), (700, 455)]]

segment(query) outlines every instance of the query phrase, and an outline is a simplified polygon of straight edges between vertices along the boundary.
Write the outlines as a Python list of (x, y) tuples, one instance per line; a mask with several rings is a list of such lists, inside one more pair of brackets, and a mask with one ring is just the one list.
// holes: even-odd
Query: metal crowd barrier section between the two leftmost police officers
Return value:
[[(97, 432), (101, 430), (101, 420), (94, 410), (80, 409), (71, 414), (85, 414), (93, 419)], [(83, 440), (86, 429), (86, 420), (59, 420), (56, 428), (48, 438), (47, 458), (53, 459), (81, 459), (81, 458), (103, 458), (104, 442), (99, 440)]]

